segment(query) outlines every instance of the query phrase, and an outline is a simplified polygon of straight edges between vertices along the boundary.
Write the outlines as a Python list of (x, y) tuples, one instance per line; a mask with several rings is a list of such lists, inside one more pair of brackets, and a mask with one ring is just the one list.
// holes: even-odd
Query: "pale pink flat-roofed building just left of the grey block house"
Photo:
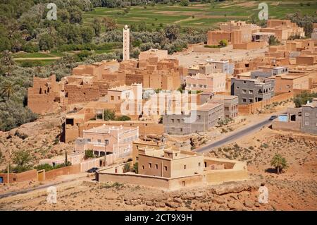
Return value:
[(186, 77), (185, 90), (225, 92), (225, 73), (201, 74)]

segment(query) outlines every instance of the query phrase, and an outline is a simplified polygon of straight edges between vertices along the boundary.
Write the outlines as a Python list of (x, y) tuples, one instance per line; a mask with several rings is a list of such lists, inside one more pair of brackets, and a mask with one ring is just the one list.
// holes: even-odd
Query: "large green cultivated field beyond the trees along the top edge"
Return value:
[[(133, 6), (128, 13), (124, 8), (94, 8), (84, 14), (85, 23), (92, 23), (94, 17), (108, 16), (114, 18), (119, 28), (123, 25), (144, 21), (148, 27), (158, 28), (160, 23), (168, 25), (176, 23), (182, 27), (211, 28), (217, 23), (227, 20), (251, 20), (257, 18), (261, 1), (224, 1), (214, 4), (190, 4), (189, 6)], [(316, 1), (265, 1), (268, 4), (270, 18), (285, 18), (288, 13), (301, 11), (303, 15), (312, 15), (317, 11)], [(309, 2), (309, 5), (306, 3)]]

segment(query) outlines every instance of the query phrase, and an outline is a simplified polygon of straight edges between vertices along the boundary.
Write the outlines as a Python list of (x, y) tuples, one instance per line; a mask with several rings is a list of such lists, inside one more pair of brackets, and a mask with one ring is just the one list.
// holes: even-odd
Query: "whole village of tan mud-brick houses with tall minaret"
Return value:
[[(268, 149), (263, 137), (274, 134), (270, 140), (276, 142), (299, 138), (316, 153), (317, 97), (299, 106), (293, 99), (317, 92), (317, 23), (307, 39), (304, 28), (290, 20), (267, 20), (266, 28), (230, 20), (221, 23), (220, 30), (209, 31), (206, 44), (192, 44), (173, 55), (149, 49), (138, 59), (130, 59), (129, 32), (125, 25), (123, 61), (80, 65), (61, 81), (54, 74), (34, 77), (27, 107), (42, 118), (61, 116), (57, 142), (68, 150), (66, 157), (61, 150), (59, 155), (40, 157), (37, 164), (56, 166), (66, 158), (69, 165), (0, 174), (2, 183), (45, 182), (98, 168), (92, 178), (101, 184), (207, 190), (227, 182), (246, 185), (254, 178), (251, 174), (263, 173), (265, 169), (259, 169), (263, 163), (250, 160), (256, 152), (253, 145)], [(210, 145), (252, 125), (261, 130)], [(243, 142), (238, 145), (239, 141)], [(239, 152), (239, 157), (228, 156), (225, 149)], [(316, 157), (311, 160), (316, 165)], [(194, 200), (199, 200), (197, 196)], [(129, 206), (176, 208), (190, 200), (176, 195), (172, 199), (166, 205), (157, 200), (124, 201)], [(248, 205), (258, 207), (253, 202), (242, 207)]]

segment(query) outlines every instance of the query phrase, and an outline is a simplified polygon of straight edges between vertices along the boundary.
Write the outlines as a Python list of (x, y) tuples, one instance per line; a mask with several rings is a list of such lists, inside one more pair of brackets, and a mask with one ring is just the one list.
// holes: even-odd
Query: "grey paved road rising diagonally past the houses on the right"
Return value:
[(242, 128), (241, 130), (238, 130), (237, 132), (232, 133), (231, 135), (228, 135), (225, 138), (217, 140), (216, 142), (200, 147), (197, 150), (194, 150), (194, 152), (199, 152), (199, 153), (209, 152), (214, 147), (220, 147), (222, 145), (233, 142), (234, 140), (242, 138), (244, 135), (247, 135), (249, 133), (254, 133), (257, 130), (260, 130), (264, 126), (269, 126), (271, 125), (271, 123), (272, 121), (269, 118), (266, 118), (265, 120), (259, 121), (259, 123), (256, 123), (252, 126), (248, 126), (247, 128)]

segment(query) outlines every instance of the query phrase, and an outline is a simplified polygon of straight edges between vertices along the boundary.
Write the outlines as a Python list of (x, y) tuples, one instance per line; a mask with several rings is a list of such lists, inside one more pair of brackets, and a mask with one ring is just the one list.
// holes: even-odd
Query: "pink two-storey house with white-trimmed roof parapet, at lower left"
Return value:
[(132, 152), (132, 142), (139, 138), (139, 127), (99, 126), (83, 130), (83, 138), (77, 138), (76, 152), (93, 150), (94, 155), (102, 157), (113, 154), (113, 157), (125, 157)]

